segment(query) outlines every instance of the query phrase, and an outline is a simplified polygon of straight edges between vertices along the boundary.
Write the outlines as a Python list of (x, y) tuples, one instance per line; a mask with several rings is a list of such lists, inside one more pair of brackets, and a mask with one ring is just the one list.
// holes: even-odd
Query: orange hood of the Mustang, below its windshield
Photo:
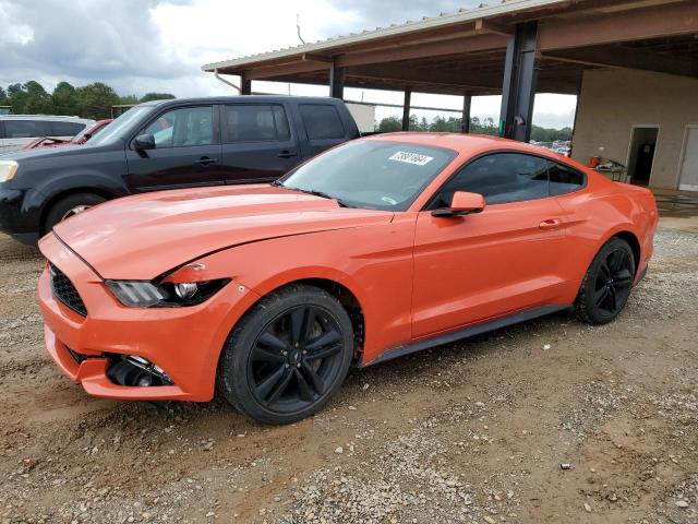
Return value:
[(106, 202), (53, 233), (103, 278), (152, 279), (212, 251), (385, 223), (393, 213), (270, 186), (197, 188)]

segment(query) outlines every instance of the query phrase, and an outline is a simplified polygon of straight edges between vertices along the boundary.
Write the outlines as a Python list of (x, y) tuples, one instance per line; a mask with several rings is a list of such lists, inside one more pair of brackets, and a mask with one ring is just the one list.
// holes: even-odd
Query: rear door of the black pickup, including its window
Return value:
[(221, 120), (226, 183), (270, 182), (300, 162), (281, 104), (226, 104)]

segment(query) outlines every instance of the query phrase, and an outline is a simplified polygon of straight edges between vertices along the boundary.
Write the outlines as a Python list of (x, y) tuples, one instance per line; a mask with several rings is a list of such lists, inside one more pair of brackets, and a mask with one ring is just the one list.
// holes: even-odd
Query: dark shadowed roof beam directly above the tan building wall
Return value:
[(683, 76), (698, 76), (698, 61), (695, 59), (622, 46), (561, 49), (549, 51), (543, 55), (543, 58), (583, 66), (640, 69)]

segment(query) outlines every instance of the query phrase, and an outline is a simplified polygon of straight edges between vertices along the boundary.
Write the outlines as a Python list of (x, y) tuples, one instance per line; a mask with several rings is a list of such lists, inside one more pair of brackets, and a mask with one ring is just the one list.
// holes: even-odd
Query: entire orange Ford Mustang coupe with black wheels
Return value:
[(306, 417), (368, 366), (574, 308), (647, 271), (646, 190), (527, 144), (396, 133), (273, 184), (147, 193), (40, 241), (46, 345), (93, 395)]

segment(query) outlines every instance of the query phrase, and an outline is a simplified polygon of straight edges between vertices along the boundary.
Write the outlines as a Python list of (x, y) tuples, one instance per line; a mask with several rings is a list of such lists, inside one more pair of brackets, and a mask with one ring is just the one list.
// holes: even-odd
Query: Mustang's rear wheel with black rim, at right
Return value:
[(625, 240), (614, 237), (599, 250), (581, 281), (575, 313), (589, 324), (614, 320), (628, 301), (635, 279), (635, 255)]

